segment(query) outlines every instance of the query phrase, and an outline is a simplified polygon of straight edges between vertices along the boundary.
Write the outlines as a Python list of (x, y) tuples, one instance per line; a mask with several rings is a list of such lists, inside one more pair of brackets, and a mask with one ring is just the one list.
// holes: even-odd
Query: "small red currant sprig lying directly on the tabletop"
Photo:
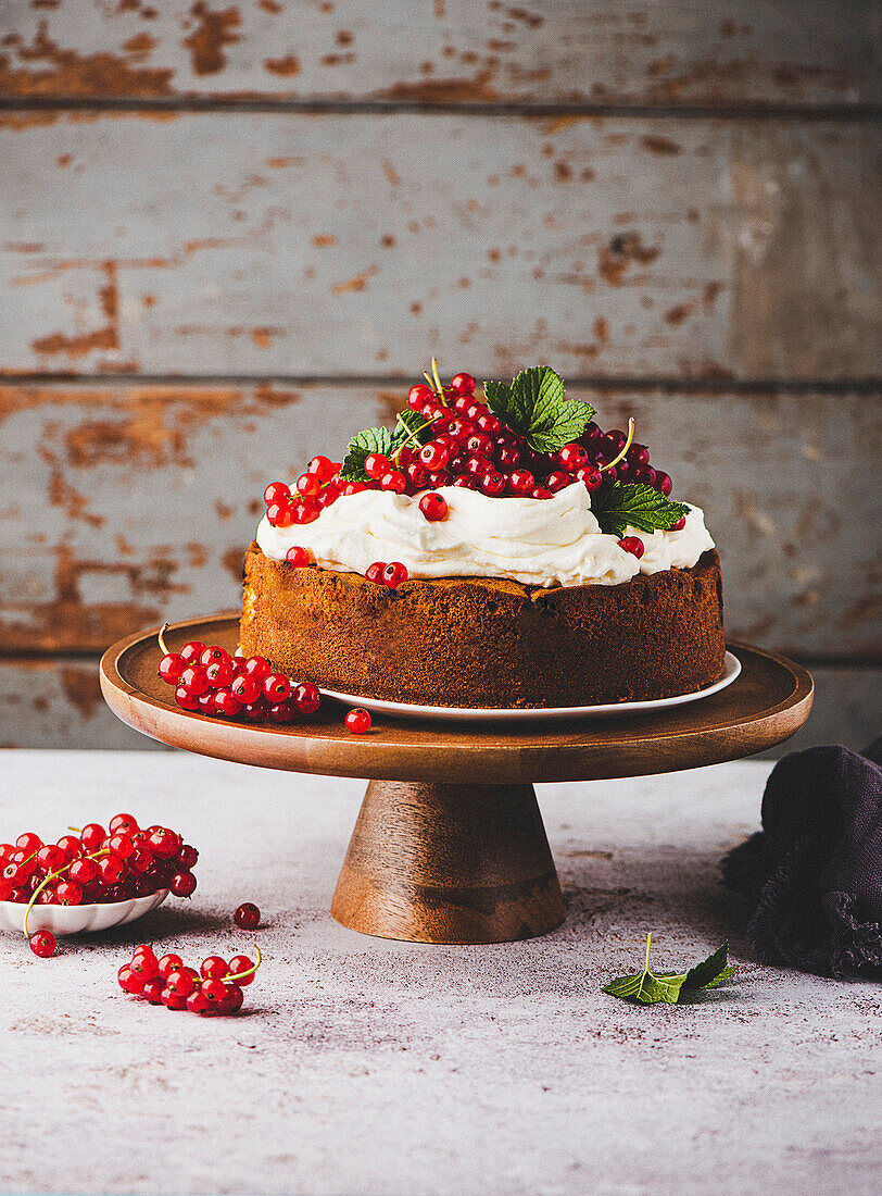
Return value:
[(169, 954), (157, 959), (152, 947), (135, 947), (131, 959), (117, 974), (120, 988), (129, 996), (164, 1005), (166, 1009), (189, 1009), (190, 1013), (238, 1013), (245, 999), (243, 988), (255, 978), (261, 966), (247, 956), (234, 956), (229, 963), (220, 956), (203, 959), (198, 971), (184, 966), (180, 956)]

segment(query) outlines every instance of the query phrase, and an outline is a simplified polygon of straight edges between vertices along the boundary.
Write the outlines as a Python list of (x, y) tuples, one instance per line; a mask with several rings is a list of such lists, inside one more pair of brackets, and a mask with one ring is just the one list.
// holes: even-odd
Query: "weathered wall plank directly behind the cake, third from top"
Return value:
[[(451, 362), (470, 367), (468, 358)], [(405, 386), (0, 386), (0, 642), (103, 651), (133, 629), (239, 602), (274, 477), (388, 420)], [(702, 506), (729, 635), (882, 658), (878, 396), (569, 389), (637, 438)], [(860, 512), (856, 519), (855, 513)], [(844, 579), (849, 579), (844, 584)]]

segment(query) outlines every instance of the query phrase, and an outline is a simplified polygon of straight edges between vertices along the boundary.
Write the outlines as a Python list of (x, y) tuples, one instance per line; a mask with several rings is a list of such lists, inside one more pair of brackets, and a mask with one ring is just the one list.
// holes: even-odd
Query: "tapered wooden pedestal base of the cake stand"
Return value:
[(415, 942), (553, 930), (564, 904), (533, 786), (372, 781), (331, 914)]

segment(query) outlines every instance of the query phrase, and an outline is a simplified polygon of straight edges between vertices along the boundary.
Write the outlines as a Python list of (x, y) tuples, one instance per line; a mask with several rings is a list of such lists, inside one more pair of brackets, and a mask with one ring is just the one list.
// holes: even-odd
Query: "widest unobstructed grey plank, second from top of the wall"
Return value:
[(43, 115), (0, 127), (7, 376), (880, 372), (870, 126)]

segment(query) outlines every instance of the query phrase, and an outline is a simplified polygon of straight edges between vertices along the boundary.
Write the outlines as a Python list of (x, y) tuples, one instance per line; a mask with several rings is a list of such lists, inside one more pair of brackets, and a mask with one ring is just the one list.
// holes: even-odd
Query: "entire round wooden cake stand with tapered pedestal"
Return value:
[[(100, 663), (114, 713), (153, 739), (261, 768), (370, 779), (331, 914), (385, 939), (504, 942), (564, 920), (534, 781), (643, 776), (737, 759), (780, 743), (811, 709), (809, 673), (743, 643), (737, 679), (700, 701), (649, 715), (572, 724), (425, 722), (378, 718), (365, 736), (325, 700), (289, 727), (191, 714), (157, 676), (158, 628), (130, 635)], [(238, 615), (173, 624), (188, 640), (233, 652)]]

